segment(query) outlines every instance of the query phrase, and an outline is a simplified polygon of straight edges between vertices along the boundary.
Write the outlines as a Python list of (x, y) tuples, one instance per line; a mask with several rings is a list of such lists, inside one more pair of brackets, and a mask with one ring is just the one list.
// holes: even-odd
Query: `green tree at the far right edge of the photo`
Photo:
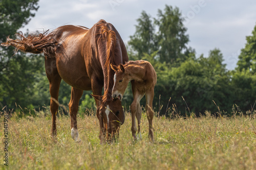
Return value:
[(237, 67), (232, 71), (231, 87), (236, 91), (234, 104), (243, 113), (251, 111), (256, 95), (256, 26), (251, 34), (246, 37), (247, 42), (238, 57)]

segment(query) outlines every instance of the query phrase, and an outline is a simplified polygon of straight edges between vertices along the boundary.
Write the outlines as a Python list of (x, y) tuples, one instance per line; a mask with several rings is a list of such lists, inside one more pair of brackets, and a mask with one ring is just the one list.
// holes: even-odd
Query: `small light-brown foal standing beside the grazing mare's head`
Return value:
[(140, 100), (143, 96), (146, 96), (146, 115), (148, 119), (148, 138), (154, 141), (153, 135), (153, 98), (154, 98), (154, 87), (157, 83), (157, 74), (154, 67), (148, 61), (129, 61), (127, 63), (115, 66), (111, 64), (112, 69), (116, 72), (114, 75), (114, 87), (112, 96), (114, 99), (119, 98), (122, 100), (123, 93), (129, 83), (132, 83), (133, 90), (133, 103), (131, 105), (132, 112), (132, 135), (136, 140), (136, 125), (135, 116), (138, 120), (138, 137), (141, 138), (140, 133), (140, 119), (141, 119), (141, 107)]

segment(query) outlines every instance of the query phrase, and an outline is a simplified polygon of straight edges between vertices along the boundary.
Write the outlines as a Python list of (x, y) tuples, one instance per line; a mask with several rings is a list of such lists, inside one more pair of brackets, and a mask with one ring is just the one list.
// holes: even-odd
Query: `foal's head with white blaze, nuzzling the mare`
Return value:
[(112, 97), (114, 99), (122, 100), (123, 93), (130, 80), (127, 78), (125, 69), (122, 64), (119, 66), (111, 64), (111, 68), (115, 71)]

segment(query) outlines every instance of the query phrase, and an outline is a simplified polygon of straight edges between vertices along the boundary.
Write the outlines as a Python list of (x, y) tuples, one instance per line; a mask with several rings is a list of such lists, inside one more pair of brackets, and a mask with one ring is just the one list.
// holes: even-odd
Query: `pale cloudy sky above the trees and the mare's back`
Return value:
[(256, 25), (256, 1), (239, 0), (39, 0), (35, 17), (20, 31), (54, 30), (63, 25), (91, 28), (98, 20), (112, 23), (125, 44), (135, 33), (136, 19), (144, 10), (157, 17), (165, 5), (178, 7), (185, 18), (188, 46), (208, 57), (218, 48), (227, 69), (234, 69), (241, 49)]

